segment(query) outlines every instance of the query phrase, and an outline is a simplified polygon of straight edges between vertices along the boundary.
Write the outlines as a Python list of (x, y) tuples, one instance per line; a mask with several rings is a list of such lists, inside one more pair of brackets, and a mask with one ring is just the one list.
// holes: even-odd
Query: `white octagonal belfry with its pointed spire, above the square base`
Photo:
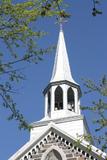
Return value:
[(59, 119), (80, 115), (81, 90), (71, 74), (62, 24), (52, 77), (44, 90), (44, 96), (45, 118)]

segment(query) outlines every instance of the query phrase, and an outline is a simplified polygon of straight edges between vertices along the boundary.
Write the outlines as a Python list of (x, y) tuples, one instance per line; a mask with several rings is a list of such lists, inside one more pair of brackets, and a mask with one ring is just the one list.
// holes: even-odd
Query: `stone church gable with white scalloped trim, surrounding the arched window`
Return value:
[[(73, 158), (83, 157), (91, 158), (96, 160), (105, 160), (107, 158), (106, 153), (97, 149), (96, 147), (89, 145), (88, 142), (82, 141), (77, 143), (78, 140), (68, 135), (66, 132), (59, 129), (53, 122), (49, 123), (48, 127), (41, 135), (35, 139), (27, 142), (18, 152), (16, 152), (9, 160), (23, 160), (29, 159), (29, 156), (32, 160), (41, 159), (43, 154), (51, 147), (56, 147), (61, 150), (65, 157)], [(91, 147), (91, 150), (88, 149)], [(72, 159), (71, 158), (71, 159)]]

